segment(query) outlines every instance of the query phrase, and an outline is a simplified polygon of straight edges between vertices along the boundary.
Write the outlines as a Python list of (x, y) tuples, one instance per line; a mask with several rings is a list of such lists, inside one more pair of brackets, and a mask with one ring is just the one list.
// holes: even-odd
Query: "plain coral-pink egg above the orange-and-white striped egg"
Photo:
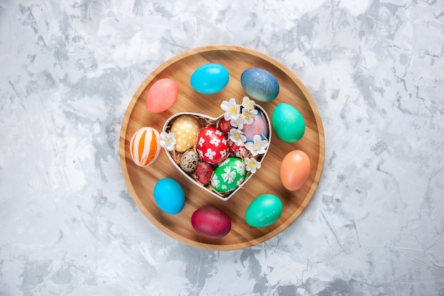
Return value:
[(146, 109), (152, 113), (160, 113), (170, 109), (176, 102), (179, 88), (170, 78), (157, 80), (148, 91)]

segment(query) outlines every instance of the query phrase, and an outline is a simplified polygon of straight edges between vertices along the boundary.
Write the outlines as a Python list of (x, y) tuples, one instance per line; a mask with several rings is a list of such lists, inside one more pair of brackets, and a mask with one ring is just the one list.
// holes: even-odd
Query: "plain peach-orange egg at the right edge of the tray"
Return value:
[(287, 190), (301, 189), (310, 175), (310, 158), (301, 150), (293, 150), (285, 155), (281, 163), (280, 176)]

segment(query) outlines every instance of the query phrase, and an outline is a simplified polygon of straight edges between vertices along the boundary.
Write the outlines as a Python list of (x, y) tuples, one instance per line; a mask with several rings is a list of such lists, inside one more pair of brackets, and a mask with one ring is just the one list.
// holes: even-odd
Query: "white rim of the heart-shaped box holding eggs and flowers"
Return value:
[[(258, 111), (262, 112), (262, 115), (265, 117), (265, 120), (267, 121), (267, 126), (268, 126), (268, 131), (269, 131), (269, 136), (268, 136), (268, 146), (267, 149), (265, 150), (265, 153), (260, 155), (260, 160), (259, 162), (262, 164), (263, 160), (265, 159), (265, 155), (267, 155), (268, 149), (270, 149), (270, 143), (271, 143), (271, 139), (272, 139), (272, 126), (271, 126), (271, 121), (270, 118), (268, 117), (267, 112), (262, 108), (262, 106), (259, 106), (258, 104), (255, 104), (255, 108), (258, 109)], [(223, 114), (221, 116), (218, 116), (217, 118), (211, 117), (211, 116), (207, 116), (205, 114), (201, 114), (201, 113), (194, 113), (194, 112), (180, 112), (177, 114), (174, 114), (173, 116), (171, 116), (169, 119), (167, 119), (167, 121), (165, 121), (165, 124), (162, 128), (162, 131), (168, 132), (169, 128), (172, 125), (172, 122), (174, 121), (174, 119), (177, 119), (179, 116), (182, 115), (191, 115), (191, 116), (196, 116), (196, 118), (201, 118), (204, 119), (206, 121), (208, 121), (209, 123), (213, 123), (213, 124), (209, 124), (209, 125), (213, 125), (216, 126), (217, 122), (219, 119), (221, 119), (223, 117)], [(202, 128), (202, 127), (201, 127)], [(242, 184), (240, 184), (240, 186), (238, 186), (235, 190), (231, 191), (231, 192), (226, 192), (225, 194), (217, 192), (216, 190), (214, 190), (211, 185), (202, 185), (200, 182), (198, 182), (196, 179), (194, 179), (194, 177), (192, 177), (192, 175), (189, 175), (187, 172), (184, 172), (184, 170), (182, 170), (182, 168), (180, 168), (179, 164), (176, 162), (176, 160), (174, 160), (172, 153), (168, 150), (165, 149), (165, 152), (168, 155), (168, 158), (170, 158), (172, 164), (177, 168), (177, 170), (179, 170), (179, 172), (182, 172), (182, 174), (185, 175), (185, 177), (188, 178), (188, 180), (190, 180), (191, 182), (194, 183), (194, 185), (201, 187), (202, 189), (206, 190), (207, 192), (213, 194), (215, 197), (218, 197), (219, 199), (222, 200), (228, 200), (231, 197), (233, 197), (233, 195), (238, 192), (238, 190), (240, 190), (240, 188), (243, 187), (243, 185), (245, 185), (248, 180), (250, 180), (250, 178), (254, 175), (251, 172), (247, 172), (247, 176), (245, 177), (245, 180), (242, 182)], [(260, 169), (259, 169), (260, 170)]]

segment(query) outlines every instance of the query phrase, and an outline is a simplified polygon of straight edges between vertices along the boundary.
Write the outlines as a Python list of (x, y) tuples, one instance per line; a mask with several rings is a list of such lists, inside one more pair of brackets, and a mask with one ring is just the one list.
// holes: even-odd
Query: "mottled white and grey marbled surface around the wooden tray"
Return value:
[[(441, 0), (0, 0), (0, 295), (443, 296), (443, 41)], [(304, 214), (238, 251), (157, 230), (118, 160), (138, 85), (211, 44), (289, 67), (326, 133)]]

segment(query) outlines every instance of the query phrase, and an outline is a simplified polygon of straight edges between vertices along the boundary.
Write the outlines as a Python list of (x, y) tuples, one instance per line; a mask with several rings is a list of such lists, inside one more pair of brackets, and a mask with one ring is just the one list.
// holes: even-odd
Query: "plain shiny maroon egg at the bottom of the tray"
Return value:
[(221, 209), (202, 207), (192, 214), (192, 226), (202, 236), (221, 239), (230, 232), (231, 220)]

